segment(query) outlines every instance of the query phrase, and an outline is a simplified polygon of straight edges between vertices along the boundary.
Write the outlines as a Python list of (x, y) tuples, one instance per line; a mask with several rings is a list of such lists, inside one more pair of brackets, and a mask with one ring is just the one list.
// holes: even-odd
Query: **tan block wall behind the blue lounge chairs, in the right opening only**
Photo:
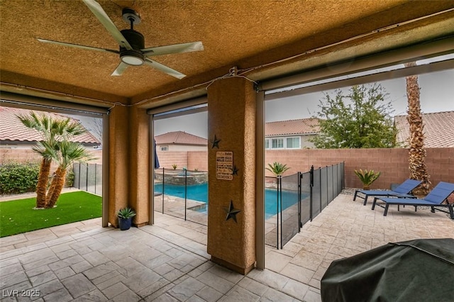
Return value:
[[(314, 168), (326, 167), (345, 162), (345, 186), (362, 187), (355, 175), (355, 169), (380, 171), (380, 178), (371, 189), (389, 188), (391, 184), (401, 183), (409, 177), (408, 150), (393, 149), (333, 149), (333, 150), (267, 150), (265, 164), (280, 162), (291, 167), (285, 174), (305, 172)], [(426, 149), (426, 166), (432, 186), (439, 181), (454, 183), (454, 148)], [(267, 172), (267, 175), (272, 175)]]

